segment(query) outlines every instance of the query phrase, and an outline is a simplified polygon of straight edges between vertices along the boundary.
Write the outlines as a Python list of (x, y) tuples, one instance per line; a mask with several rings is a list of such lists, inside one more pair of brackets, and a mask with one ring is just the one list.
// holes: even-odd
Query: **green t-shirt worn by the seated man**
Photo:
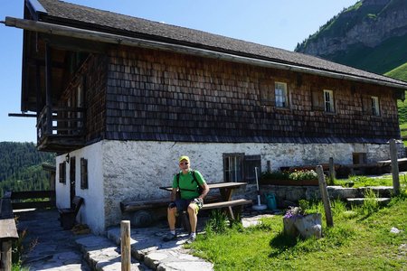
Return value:
[[(194, 171), (195, 173), (195, 178), (196, 181), (202, 185), (205, 182), (204, 177), (202, 174), (198, 171)], [(174, 176), (173, 180), (173, 188), (177, 188), (177, 183), (176, 183), (176, 174)], [(179, 172), (179, 188), (181, 189), (181, 199), (185, 200), (191, 200), (194, 198), (199, 197), (199, 192), (198, 192), (198, 184), (194, 181), (194, 176), (192, 175), (192, 170), (190, 170), (188, 173), (183, 174), (182, 171)], [(185, 191), (183, 189), (188, 189), (188, 190), (194, 190), (193, 191)]]

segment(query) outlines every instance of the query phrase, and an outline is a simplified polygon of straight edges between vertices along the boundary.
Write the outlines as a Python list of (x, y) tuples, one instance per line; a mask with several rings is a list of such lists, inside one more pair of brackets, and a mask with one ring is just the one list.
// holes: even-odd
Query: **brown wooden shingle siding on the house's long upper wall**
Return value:
[[(110, 51), (107, 67), (107, 139), (383, 143), (399, 135), (393, 94), (373, 85), (126, 47)], [(276, 80), (288, 84), (288, 108), (273, 106)], [(335, 113), (313, 105), (323, 89), (334, 91)], [(364, 114), (368, 93), (380, 98), (381, 117)]]

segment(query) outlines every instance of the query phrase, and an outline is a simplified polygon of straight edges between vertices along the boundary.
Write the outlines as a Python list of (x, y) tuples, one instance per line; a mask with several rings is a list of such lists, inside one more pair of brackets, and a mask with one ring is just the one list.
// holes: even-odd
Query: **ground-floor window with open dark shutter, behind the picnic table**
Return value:
[(256, 182), (254, 169), (258, 168), (258, 178), (261, 173), (260, 155), (223, 154), (224, 182)]

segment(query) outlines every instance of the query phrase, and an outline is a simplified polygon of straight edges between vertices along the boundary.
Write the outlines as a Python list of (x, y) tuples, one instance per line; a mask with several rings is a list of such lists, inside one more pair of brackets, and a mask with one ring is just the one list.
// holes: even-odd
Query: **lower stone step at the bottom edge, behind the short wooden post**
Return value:
[[(87, 235), (77, 238), (83, 257), (92, 270), (113, 271), (121, 269), (120, 247), (109, 238)], [(144, 264), (132, 258), (131, 270), (150, 270)]]

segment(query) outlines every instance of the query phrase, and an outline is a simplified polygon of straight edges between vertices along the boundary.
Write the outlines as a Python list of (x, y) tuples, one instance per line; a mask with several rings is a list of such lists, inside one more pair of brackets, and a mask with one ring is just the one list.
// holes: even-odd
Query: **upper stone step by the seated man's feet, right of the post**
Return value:
[[(178, 239), (164, 242), (168, 229), (156, 227), (131, 229), (131, 255), (153, 270), (213, 270), (213, 264), (194, 257), (184, 248), (186, 234), (178, 234)], [(119, 227), (108, 230), (107, 236), (117, 245), (120, 243)]]

